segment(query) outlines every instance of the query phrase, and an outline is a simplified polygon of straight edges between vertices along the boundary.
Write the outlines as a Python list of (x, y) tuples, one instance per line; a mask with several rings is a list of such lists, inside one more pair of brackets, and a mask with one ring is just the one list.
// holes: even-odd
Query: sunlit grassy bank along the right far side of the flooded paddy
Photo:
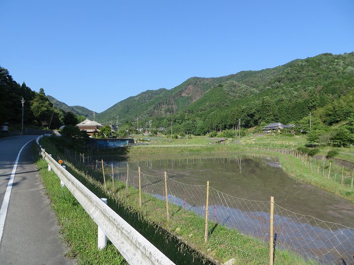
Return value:
[[(285, 150), (296, 151), (299, 146), (304, 146), (306, 139), (304, 137), (283, 137), (283, 136), (265, 136), (258, 138), (246, 137), (241, 140), (241, 146), (251, 148), (254, 151), (277, 154), (282, 168), (290, 176), (305, 181), (306, 183), (320, 187), (326, 191), (337, 194), (345, 199), (354, 202), (354, 191), (352, 188), (353, 171), (350, 168), (342, 167), (333, 160), (315, 160), (309, 161), (309, 156), (297, 158), (289, 154), (279, 154)], [(257, 150), (258, 148), (258, 150)], [(262, 150), (260, 150), (262, 149)], [(328, 150), (337, 149), (354, 153), (352, 148), (333, 148), (320, 147), (320, 155), (326, 155)], [(351, 155), (347, 155), (352, 159)], [(345, 160), (346, 156), (339, 153), (338, 158)], [(351, 162), (352, 160), (347, 159)], [(343, 172), (343, 186), (341, 185), (341, 177)]]

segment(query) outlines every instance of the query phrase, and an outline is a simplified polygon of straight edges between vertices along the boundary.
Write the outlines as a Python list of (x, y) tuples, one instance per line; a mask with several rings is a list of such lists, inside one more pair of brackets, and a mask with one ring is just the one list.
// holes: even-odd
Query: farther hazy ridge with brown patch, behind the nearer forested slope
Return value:
[(272, 69), (242, 71), (223, 77), (192, 77), (170, 90), (164, 88), (147, 90), (116, 103), (108, 110), (97, 115), (97, 120), (102, 123), (109, 123), (115, 121), (117, 115), (119, 115), (121, 122), (126, 122), (138, 117), (140, 119), (150, 119), (151, 117), (175, 114), (202, 98), (211, 88), (223, 83), (233, 86), (235, 83), (243, 82), (243, 93), (250, 94), (253, 90), (256, 91), (268, 82), (271, 77), (296, 62), (297, 60)]

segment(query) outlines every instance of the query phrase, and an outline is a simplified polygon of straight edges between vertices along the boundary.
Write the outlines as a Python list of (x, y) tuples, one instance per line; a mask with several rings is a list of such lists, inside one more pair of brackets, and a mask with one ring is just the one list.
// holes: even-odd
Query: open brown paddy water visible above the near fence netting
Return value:
[[(206, 185), (243, 199), (275, 202), (302, 215), (354, 227), (354, 204), (289, 177), (277, 157), (225, 154), (156, 155), (129, 158), (129, 168), (186, 184)], [(192, 203), (192, 202), (191, 202)]]

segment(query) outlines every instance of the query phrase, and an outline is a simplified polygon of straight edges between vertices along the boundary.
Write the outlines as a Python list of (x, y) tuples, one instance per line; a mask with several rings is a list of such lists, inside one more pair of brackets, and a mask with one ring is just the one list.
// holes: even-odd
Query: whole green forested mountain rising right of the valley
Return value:
[[(309, 112), (331, 125), (354, 110), (354, 53), (322, 54), (260, 71), (218, 78), (193, 77), (170, 90), (146, 91), (100, 113), (105, 123), (117, 115), (124, 123), (136, 118), (176, 133), (204, 134), (280, 121), (296, 123)], [(339, 118), (335, 118), (339, 117)]]

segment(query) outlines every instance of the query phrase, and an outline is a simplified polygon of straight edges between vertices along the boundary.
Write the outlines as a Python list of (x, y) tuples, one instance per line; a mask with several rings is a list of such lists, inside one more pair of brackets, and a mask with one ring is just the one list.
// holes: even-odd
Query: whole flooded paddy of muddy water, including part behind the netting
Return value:
[(354, 204), (289, 177), (277, 157), (238, 153), (144, 155), (129, 157), (116, 166), (126, 163), (129, 169), (137, 171), (140, 167), (146, 174), (143, 191), (161, 199), (166, 172), (169, 201), (202, 216), (209, 181), (209, 219), (264, 241), (269, 239), (269, 201), (274, 196), (278, 246), (298, 250), (320, 263), (343, 257), (347, 264), (354, 264), (354, 230), (350, 229), (354, 227)]

